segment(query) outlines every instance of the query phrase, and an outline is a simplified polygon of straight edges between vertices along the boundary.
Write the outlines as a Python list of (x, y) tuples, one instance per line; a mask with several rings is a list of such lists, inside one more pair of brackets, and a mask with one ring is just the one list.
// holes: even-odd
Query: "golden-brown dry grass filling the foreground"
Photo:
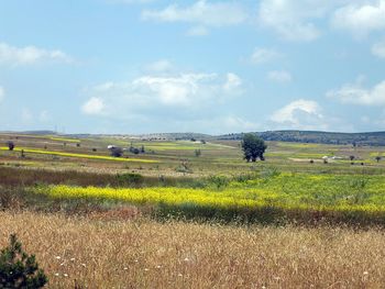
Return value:
[[(124, 218), (127, 214), (127, 218)], [(385, 234), (0, 212), (51, 288), (381, 288)], [(55, 276), (58, 275), (58, 276)]]

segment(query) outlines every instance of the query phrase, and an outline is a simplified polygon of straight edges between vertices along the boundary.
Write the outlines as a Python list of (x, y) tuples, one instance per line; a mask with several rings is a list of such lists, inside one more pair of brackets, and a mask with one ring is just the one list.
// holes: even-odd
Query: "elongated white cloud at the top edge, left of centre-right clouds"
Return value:
[(172, 4), (163, 10), (144, 10), (143, 20), (161, 22), (187, 22), (204, 26), (221, 27), (244, 22), (246, 12), (237, 2), (209, 2), (199, 0), (191, 5)]

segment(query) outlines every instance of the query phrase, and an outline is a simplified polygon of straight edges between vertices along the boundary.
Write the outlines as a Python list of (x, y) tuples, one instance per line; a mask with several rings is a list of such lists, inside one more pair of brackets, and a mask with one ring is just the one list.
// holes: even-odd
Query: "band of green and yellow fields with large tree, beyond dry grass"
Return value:
[[(0, 149), (0, 205), (88, 211), (119, 203), (199, 220), (385, 223), (380, 147), (264, 143), (245, 134), (243, 142), (82, 137), (79, 147), (51, 138), (44, 149), (50, 137), (2, 138), (15, 138), (15, 149)], [(107, 144), (136, 147), (141, 158), (107, 156)], [(248, 164), (242, 155), (268, 159)]]

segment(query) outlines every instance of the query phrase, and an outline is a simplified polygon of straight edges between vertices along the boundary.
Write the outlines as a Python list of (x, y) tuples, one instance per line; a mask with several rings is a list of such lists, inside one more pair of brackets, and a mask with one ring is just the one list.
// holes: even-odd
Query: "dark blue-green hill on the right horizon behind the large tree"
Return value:
[[(267, 131), (255, 132), (265, 141), (320, 143), (320, 144), (352, 144), (352, 145), (385, 145), (385, 132), (372, 133), (332, 133), (317, 131)], [(242, 140), (243, 133), (217, 136), (217, 140)]]

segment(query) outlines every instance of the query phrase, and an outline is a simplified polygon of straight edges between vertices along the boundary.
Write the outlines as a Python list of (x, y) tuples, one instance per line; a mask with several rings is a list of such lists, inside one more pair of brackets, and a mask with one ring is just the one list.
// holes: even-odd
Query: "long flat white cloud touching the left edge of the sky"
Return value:
[(72, 63), (73, 59), (62, 51), (47, 51), (35, 46), (15, 47), (0, 43), (0, 64), (32, 65), (36, 63)]

